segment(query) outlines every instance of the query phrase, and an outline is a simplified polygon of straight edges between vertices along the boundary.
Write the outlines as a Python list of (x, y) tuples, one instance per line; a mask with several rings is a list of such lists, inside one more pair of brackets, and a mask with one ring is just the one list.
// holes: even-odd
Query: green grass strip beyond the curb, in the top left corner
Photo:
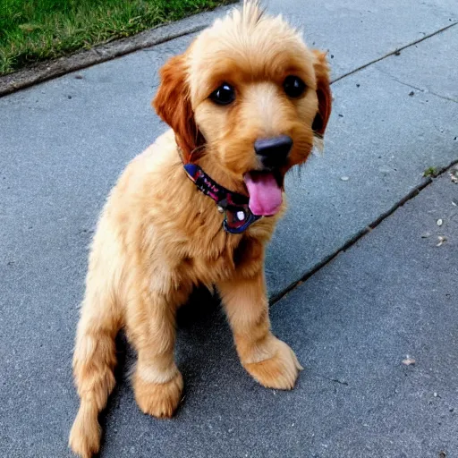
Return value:
[(0, 0), (0, 75), (231, 0)]

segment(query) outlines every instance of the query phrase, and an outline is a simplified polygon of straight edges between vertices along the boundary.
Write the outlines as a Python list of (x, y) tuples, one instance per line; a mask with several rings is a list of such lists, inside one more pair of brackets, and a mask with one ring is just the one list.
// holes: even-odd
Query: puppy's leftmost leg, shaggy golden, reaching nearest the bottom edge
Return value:
[[(94, 259), (97, 256), (94, 250), (91, 256), (73, 354), (73, 375), (81, 403), (69, 438), (72, 451), (83, 458), (97, 454), (100, 448), (98, 414), (114, 388), (115, 338), (122, 326), (113, 281), (107, 281), (110, 277), (114, 279), (109, 275), (113, 270), (109, 272), (110, 267), (103, 263), (108, 272), (97, 275), (100, 259)], [(91, 269), (91, 264), (95, 268)]]

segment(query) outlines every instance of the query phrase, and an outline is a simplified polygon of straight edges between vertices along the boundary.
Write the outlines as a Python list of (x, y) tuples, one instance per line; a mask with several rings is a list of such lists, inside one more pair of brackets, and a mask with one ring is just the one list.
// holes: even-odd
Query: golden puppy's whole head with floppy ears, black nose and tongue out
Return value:
[(321, 140), (331, 113), (326, 54), (247, 0), (161, 71), (154, 106), (186, 160), (211, 156), (273, 215), (284, 174)]

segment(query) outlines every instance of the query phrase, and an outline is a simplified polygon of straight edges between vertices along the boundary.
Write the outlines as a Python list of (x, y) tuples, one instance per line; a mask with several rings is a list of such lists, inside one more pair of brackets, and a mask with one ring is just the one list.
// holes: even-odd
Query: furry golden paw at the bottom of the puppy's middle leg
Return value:
[(182, 374), (177, 370), (165, 383), (151, 383), (138, 373), (133, 377), (133, 391), (140, 411), (157, 418), (172, 417), (182, 397)]

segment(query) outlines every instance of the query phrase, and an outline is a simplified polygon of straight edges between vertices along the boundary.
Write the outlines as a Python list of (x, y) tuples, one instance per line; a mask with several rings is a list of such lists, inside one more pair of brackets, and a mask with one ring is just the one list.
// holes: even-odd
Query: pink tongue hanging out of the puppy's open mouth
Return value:
[(254, 215), (273, 216), (282, 205), (282, 190), (273, 174), (250, 172), (245, 175), (250, 193), (250, 210)]

